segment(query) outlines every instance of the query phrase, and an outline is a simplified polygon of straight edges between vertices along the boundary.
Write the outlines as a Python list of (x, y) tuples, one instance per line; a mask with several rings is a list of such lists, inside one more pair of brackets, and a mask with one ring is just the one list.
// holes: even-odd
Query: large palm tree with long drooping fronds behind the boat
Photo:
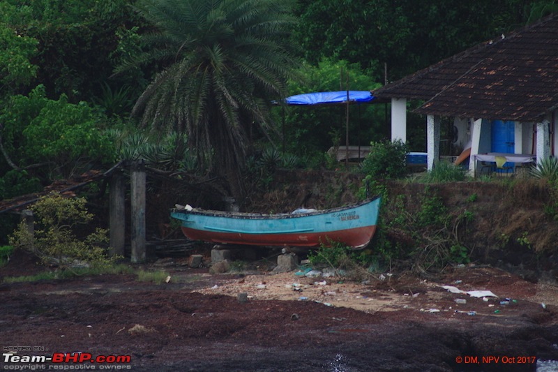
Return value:
[(163, 70), (133, 114), (158, 133), (186, 133), (200, 164), (238, 181), (248, 128), (269, 133), (270, 103), (298, 66), (289, 1), (140, 0), (138, 10), (156, 29), (139, 61)]

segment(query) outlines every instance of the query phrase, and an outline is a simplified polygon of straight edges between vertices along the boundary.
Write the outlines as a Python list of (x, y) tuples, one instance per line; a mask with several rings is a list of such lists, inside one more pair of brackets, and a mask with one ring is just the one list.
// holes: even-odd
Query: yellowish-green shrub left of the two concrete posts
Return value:
[(73, 266), (104, 266), (114, 258), (107, 257), (107, 232), (95, 232), (78, 238), (75, 230), (86, 225), (93, 215), (85, 207), (84, 198), (63, 198), (52, 193), (31, 207), (36, 216), (34, 236), (22, 222), (10, 237), (10, 245), (31, 250), (45, 264), (55, 263), (63, 269)]

